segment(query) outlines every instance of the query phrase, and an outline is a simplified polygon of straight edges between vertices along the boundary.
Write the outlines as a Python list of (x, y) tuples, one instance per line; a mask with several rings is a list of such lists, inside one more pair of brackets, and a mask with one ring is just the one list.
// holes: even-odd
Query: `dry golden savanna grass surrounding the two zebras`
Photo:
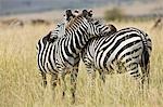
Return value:
[[(36, 43), (54, 25), (0, 26), (0, 107), (163, 107), (163, 28), (151, 30), (153, 22), (113, 22), (117, 29), (134, 26), (148, 32), (153, 42), (150, 70), (150, 89), (142, 98), (136, 82), (127, 75), (106, 76), (101, 91), (97, 73), (96, 97), (91, 103), (87, 94), (88, 79), (80, 63), (76, 103), (71, 105), (70, 77), (67, 92), (62, 99), (61, 86), (57, 86), (53, 99), (50, 86), (41, 86), (37, 68)], [(48, 80), (50, 76), (48, 76)]]

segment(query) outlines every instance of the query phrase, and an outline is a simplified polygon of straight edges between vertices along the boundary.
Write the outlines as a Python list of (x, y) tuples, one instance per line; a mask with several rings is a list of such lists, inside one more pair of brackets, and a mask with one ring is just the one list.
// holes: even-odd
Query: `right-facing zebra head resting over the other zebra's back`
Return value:
[(109, 26), (100, 23), (99, 21), (92, 18), (91, 11), (83, 10), (83, 13), (74, 17), (72, 24), (68, 24), (66, 30), (80, 29), (80, 35), (89, 35), (90, 38), (102, 36), (109, 32), (111, 29)]

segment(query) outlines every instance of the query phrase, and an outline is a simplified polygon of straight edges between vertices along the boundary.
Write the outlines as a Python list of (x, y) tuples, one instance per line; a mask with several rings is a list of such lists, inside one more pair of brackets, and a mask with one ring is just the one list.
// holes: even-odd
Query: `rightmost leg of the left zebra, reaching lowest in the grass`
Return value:
[(76, 92), (76, 82), (77, 82), (77, 73), (78, 73), (78, 64), (73, 68), (71, 72), (71, 93), (72, 93), (72, 104), (75, 103), (75, 92)]

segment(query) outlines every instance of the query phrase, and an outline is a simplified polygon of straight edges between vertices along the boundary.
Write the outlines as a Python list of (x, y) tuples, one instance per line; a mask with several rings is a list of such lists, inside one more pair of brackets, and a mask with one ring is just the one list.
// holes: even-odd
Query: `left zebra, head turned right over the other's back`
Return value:
[(42, 37), (37, 43), (37, 63), (43, 85), (47, 84), (46, 73), (49, 72), (52, 75), (51, 83), (54, 89), (60, 73), (64, 83), (64, 96), (66, 89), (64, 78), (70, 71), (72, 103), (75, 103), (79, 53), (89, 39), (102, 36), (103, 32), (108, 31), (106, 28), (108, 26), (90, 17), (87, 10), (84, 10), (66, 26), (65, 36), (55, 41), (51, 41), (51, 34)]

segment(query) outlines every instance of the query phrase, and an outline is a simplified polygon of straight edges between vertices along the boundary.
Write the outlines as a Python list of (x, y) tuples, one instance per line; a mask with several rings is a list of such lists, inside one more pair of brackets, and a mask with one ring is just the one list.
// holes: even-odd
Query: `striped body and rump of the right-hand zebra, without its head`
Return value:
[[(105, 73), (129, 73), (140, 83), (149, 85), (149, 68), (152, 42), (150, 37), (140, 29), (128, 27), (111, 36), (91, 39), (82, 52), (82, 59), (93, 85), (96, 70), (105, 83)], [(140, 67), (141, 70), (138, 70)]]

